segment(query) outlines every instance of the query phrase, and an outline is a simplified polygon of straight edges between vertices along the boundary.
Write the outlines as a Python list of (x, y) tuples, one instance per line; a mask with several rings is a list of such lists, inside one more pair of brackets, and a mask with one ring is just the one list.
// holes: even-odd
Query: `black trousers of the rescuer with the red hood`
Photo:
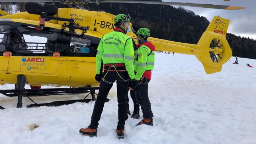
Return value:
[(153, 117), (153, 113), (151, 111), (151, 103), (148, 98), (148, 83), (149, 79), (143, 78), (143, 81), (140, 83), (140, 85), (137, 87), (135, 92), (135, 97), (140, 104), (141, 109), (143, 111), (143, 118), (151, 118)]

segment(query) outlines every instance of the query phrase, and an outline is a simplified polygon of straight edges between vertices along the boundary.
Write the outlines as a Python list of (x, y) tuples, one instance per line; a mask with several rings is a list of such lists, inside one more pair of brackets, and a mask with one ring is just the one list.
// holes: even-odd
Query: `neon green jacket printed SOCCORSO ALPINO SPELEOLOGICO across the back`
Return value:
[(131, 79), (135, 78), (133, 69), (133, 42), (122, 32), (113, 31), (101, 38), (96, 55), (96, 74), (100, 74), (103, 64), (123, 63)]

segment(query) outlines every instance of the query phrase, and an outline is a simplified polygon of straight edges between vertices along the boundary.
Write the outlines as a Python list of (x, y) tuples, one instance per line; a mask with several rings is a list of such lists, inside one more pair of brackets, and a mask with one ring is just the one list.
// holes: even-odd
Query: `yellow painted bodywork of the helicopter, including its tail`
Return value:
[[(85, 35), (101, 38), (104, 34), (113, 30), (114, 15), (105, 12), (86, 11), (81, 9), (61, 8), (55, 15), (63, 18), (74, 18), (75, 22), (81, 26), (88, 28)], [(39, 15), (31, 15), (27, 12), (21, 12), (0, 17), (2, 20), (9, 20), (13, 23), (23, 23), (39, 26)], [(226, 27), (219, 33), (219, 27), (215, 28), (216, 19), (221, 19), (226, 23)], [(45, 27), (61, 30), (63, 21), (50, 20), (45, 22)], [(226, 42), (226, 31), (229, 20), (214, 17), (208, 29), (204, 32), (198, 44), (185, 44), (168, 40), (149, 37), (156, 47), (156, 51), (170, 51), (182, 54), (193, 54), (202, 62), (206, 73), (214, 73), (221, 71), (222, 65), (232, 56), (232, 51)], [(220, 28), (221, 29), (221, 28)], [(69, 29), (66, 28), (65, 31)], [(219, 31), (218, 31), (219, 30)], [(76, 33), (82, 33), (76, 30)], [(127, 35), (135, 38), (136, 36), (130, 32)], [(212, 39), (221, 40), (222, 50), (209, 50), (209, 44)], [(209, 58), (209, 51), (215, 51), (216, 54), (222, 56), (218, 63), (212, 62)], [(223, 53), (222, 51), (225, 51)], [(27, 65), (22, 61), (23, 58), (34, 58), (34, 62), (38, 61), (41, 65), (38, 69), (28, 69)], [(27, 84), (31, 85), (47, 85), (47, 86), (97, 86), (94, 76), (96, 74), (96, 58), (95, 57), (69, 57), (60, 55), (59, 58), (53, 56), (16, 56), (10, 57), (0, 56), (0, 84), (17, 83), (17, 75), (26, 76)], [(31, 61), (28, 61), (31, 62)], [(32, 61), (33, 62), (33, 61)], [(29, 63), (32, 64), (32, 63)], [(27, 69), (26, 69), (27, 68)]]

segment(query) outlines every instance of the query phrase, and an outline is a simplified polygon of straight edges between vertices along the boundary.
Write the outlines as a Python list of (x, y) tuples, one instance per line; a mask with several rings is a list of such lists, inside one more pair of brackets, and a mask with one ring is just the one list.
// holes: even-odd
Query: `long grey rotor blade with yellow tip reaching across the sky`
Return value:
[[(89, 3), (95, 3), (96, 1), (89, 1)], [(240, 6), (229, 6), (229, 5), (212, 5), (212, 4), (197, 4), (197, 3), (183, 3), (183, 2), (153, 2), (153, 1), (123, 1), (123, 0), (107, 0), (98, 1), (99, 3), (140, 3), (140, 4), (154, 4), (154, 5), (180, 5), (180, 6), (191, 6), (200, 8), (210, 8), (210, 9), (245, 9), (245, 7)]]

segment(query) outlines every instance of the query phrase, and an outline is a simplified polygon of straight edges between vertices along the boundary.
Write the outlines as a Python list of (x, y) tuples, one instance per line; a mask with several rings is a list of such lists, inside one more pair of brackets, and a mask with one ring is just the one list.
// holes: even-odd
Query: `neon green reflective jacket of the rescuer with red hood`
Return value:
[[(150, 54), (151, 53), (151, 54)], [(140, 80), (145, 71), (153, 70), (155, 64), (155, 51), (145, 45), (141, 45), (135, 52), (136, 58), (134, 62), (135, 79)]]

